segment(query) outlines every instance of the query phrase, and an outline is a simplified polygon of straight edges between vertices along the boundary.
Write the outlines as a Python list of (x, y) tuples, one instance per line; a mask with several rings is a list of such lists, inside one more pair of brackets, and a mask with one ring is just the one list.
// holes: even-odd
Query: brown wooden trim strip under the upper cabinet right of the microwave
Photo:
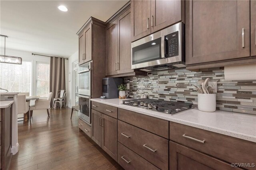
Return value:
[(247, 58), (232, 60), (232, 61), (228, 60), (228, 61), (222, 61), (222, 62), (191, 64), (186, 66), (186, 70), (197, 70), (200, 68), (230, 66), (230, 65), (236, 65), (236, 64), (248, 64), (248, 63), (256, 63), (256, 57), (247, 57)]

